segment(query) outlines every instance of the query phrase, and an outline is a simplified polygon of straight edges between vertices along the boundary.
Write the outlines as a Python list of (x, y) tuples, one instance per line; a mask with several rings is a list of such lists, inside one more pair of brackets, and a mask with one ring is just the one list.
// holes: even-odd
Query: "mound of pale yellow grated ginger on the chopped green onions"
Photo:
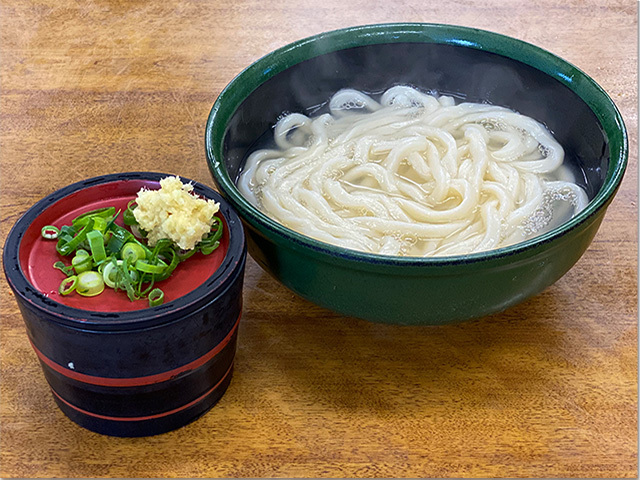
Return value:
[(173, 240), (183, 250), (191, 250), (211, 231), (213, 216), (220, 205), (196, 196), (193, 185), (180, 177), (160, 180), (160, 190), (142, 188), (133, 215), (147, 232), (150, 246), (162, 238)]

